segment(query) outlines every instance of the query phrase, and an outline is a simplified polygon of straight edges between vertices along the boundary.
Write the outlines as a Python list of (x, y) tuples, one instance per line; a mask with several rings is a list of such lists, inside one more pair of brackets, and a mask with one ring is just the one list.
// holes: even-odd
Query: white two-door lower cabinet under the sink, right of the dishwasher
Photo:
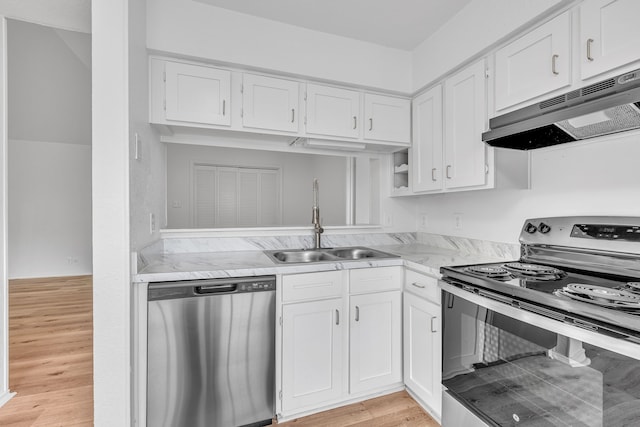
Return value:
[(402, 274), (398, 266), (282, 277), (279, 419), (402, 387)]

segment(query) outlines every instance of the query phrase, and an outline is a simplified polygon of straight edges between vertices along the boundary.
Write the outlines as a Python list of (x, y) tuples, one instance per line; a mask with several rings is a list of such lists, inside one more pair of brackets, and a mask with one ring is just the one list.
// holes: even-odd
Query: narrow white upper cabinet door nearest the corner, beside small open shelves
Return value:
[(413, 100), (413, 191), (442, 189), (442, 86)]

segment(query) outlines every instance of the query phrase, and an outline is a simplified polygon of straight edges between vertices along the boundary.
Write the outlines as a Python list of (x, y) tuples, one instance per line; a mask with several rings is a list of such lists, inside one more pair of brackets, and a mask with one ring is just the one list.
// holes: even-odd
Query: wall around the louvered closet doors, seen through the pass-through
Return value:
[[(312, 182), (318, 178), (323, 224), (345, 224), (347, 160), (344, 157), (168, 144), (168, 228), (192, 228), (189, 197), (191, 165), (194, 162), (280, 168), (282, 224), (286, 226), (311, 224)], [(181, 207), (172, 207), (174, 201)]]

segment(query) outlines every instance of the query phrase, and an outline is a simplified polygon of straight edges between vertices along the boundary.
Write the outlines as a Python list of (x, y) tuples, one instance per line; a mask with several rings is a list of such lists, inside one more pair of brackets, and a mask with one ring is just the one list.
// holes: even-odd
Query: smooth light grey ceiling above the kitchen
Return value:
[(196, 0), (323, 33), (413, 50), (471, 0)]

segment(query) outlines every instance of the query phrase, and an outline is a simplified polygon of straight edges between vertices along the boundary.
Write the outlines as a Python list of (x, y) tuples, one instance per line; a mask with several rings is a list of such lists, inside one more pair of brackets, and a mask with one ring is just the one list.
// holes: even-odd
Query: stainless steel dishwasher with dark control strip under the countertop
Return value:
[(275, 276), (150, 283), (147, 426), (271, 424)]

